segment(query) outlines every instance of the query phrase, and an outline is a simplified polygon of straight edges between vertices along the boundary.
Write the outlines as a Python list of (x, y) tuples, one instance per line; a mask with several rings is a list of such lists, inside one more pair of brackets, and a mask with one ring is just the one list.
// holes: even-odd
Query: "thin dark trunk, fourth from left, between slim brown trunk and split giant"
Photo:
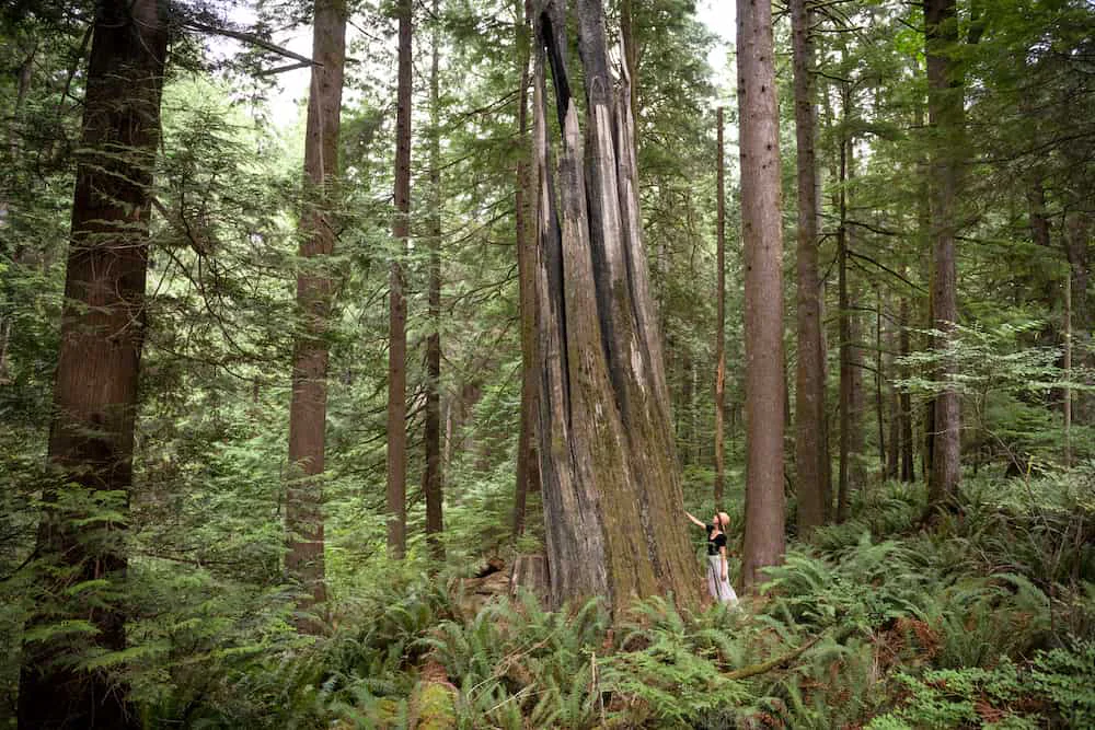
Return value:
[(434, 560), (445, 559), (441, 542), (443, 522), (443, 475), (441, 474), (441, 128), (438, 66), (441, 37), (438, 31), (440, 3), (434, 0), (434, 26), (429, 59), (429, 285), (430, 333), (426, 337), (426, 470), (423, 494), (426, 497), (426, 541)]

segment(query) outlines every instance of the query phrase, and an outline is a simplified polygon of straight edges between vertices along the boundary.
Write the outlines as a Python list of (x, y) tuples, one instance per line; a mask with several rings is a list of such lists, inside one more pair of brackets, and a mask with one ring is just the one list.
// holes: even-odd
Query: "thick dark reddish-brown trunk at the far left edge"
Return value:
[[(157, 0), (99, 2), (94, 23), (49, 432), (56, 480), (43, 488), (44, 586), (27, 621), (46, 636), (23, 646), (21, 728), (138, 725), (125, 684), (73, 660), (126, 644), (124, 514), (168, 31)], [(69, 622), (93, 631), (47, 628)]]

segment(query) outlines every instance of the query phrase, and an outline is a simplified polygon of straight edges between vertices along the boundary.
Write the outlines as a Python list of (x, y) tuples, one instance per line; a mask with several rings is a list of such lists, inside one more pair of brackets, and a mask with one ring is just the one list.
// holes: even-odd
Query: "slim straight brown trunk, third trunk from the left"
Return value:
[(403, 258), (411, 234), (411, 0), (399, 0), (399, 88), (395, 112), (395, 217), (388, 317), (388, 553), (407, 549), (407, 302)]

